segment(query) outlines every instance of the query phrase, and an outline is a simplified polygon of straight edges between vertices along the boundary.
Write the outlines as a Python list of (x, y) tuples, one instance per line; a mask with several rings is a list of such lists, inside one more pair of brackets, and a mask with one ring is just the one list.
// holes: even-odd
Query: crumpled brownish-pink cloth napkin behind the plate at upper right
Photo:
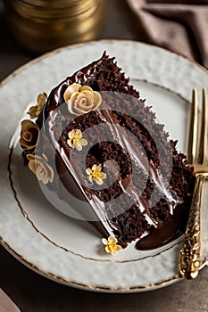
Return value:
[(147, 40), (208, 68), (208, 0), (127, 0)]

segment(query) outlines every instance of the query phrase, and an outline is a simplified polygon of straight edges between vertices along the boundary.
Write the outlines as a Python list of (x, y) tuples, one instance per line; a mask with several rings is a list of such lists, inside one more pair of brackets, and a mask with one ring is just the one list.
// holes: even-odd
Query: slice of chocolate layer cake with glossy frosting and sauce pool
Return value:
[(181, 233), (193, 168), (114, 58), (104, 53), (66, 78), (43, 106), (36, 149), (24, 149), (29, 168), (60, 198), (63, 187), (86, 201), (79, 214), (107, 252), (143, 236), (137, 248), (159, 247)]

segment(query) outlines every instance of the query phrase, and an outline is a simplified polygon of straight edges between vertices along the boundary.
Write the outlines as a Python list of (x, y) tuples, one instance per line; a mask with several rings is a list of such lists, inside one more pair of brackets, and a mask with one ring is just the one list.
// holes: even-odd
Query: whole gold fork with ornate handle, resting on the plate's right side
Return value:
[[(198, 105), (196, 88), (192, 94), (192, 107), (187, 142), (187, 162), (194, 166), (196, 185), (187, 220), (187, 229), (183, 247), (179, 252), (179, 272), (187, 279), (194, 279), (200, 267), (200, 208), (204, 180), (208, 177), (208, 116), (207, 95), (203, 89), (201, 125), (198, 126)], [(199, 127), (200, 138), (198, 142)], [(198, 152), (196, 152), (198, 150)]]

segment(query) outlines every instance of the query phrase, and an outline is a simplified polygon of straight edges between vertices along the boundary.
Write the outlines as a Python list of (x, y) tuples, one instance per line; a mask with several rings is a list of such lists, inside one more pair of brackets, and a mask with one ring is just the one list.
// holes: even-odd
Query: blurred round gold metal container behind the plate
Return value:
[(98, 37), (105, 0), (4, 0), (12, 36), (27, 49), (45, 53)]

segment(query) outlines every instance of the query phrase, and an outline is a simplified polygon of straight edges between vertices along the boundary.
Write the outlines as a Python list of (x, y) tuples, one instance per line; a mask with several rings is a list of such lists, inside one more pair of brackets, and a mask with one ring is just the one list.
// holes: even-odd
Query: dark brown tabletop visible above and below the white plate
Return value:
[[(2, 80), (12, 70), (34, 58), (34, 55), (22, 50), (12, 40), (4, 22), (4, 10), (1, 1), (0, 29), (0, 80)], [(122, 0), (107, 1), (106, 21), (100, 38), (144, 40), (143, 34), (139, 34), (131, 23), (131, 16)], [(0, 287), (21, 308), (22, 312), (208, 311), (207, 267), (200, 272), (195, 281), (180, 281), (156, 291), (106, 294), (80, 291), (54, 283), (24, 267), (0, 246)]]

